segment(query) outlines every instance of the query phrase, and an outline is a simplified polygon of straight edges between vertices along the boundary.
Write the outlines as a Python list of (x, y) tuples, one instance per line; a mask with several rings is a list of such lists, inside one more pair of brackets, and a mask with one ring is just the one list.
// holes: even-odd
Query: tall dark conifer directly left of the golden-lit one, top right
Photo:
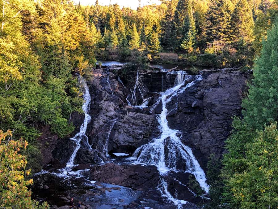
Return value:
[(231, 42), (230, 7), (227, 0), (215, 0), (206, 14), (207, 41), (222, 40)]

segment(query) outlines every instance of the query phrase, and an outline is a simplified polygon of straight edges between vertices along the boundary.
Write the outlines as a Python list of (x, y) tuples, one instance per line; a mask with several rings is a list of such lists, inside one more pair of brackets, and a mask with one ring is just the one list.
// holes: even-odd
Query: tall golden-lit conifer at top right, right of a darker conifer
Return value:
[(243, 39), (247, 44), (254, 40), (254, 21), (252, 10), (246, 0), (239, 0), (231, 15), (231, 27), (233, 28), (233, 41)]

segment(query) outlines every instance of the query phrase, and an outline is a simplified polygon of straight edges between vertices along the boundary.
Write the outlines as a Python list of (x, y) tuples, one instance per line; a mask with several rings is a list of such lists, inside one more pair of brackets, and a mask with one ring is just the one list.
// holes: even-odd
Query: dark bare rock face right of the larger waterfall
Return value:
[(180, 93), (167, 104), (171, 128), (182, 131), (182, 141), (192, 148), (200, 166), (206, 169), (208, 157), (224, 152), (233, 116), (241, 114), (245, 74), (204, 73), (203, 80)]

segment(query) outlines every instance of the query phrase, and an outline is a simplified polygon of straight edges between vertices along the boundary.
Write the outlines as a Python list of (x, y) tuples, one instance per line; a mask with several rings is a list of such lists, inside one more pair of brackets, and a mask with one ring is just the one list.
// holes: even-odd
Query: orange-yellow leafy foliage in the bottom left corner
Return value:
[[(38, 205), (31, 200), (33, 179), (25, 180), (31, 170), (25, 170), (26, 157), (19, 151), (26, 149), (28, 143), (22, 139), (10, 140), (11, 131), (4, 133), (0, 130), (0, 207), (1, 208), (49, 208), (46, 203)], [(7, 138), (6, 138), (7, 137)]]

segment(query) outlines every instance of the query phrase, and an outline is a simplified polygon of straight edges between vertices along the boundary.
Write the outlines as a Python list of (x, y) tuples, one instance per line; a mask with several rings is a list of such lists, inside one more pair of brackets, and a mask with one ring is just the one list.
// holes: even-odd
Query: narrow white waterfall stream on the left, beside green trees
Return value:
[[(84, 103), (82, 105), (82, 110), (85, 113), (85, 119), (84, 119), (82, 125), (80, 126), (79, 133), (77, 133), (73, 138), (70, 138), (70, 140), (72, 140), (76, 143), (76, 147), (74, 149), (74, 152), (70, 156), (69, 161), (67, 162), (67, 165), (65, 167), (66, 171), (71, 171), (72, 167), (74, 166), (74, 159), (76, 157), (78, 150), (80, 149), (81, 140), (86, 138), (87, 143), (88, 143), (88, 137), (86, 136), (86, 130), (87, 130), (88, 123), (91, 121), (91, 116), (89, 115), (91, 95), (90, 95), (89, 88), (87, 86), (86, 81), (82, 77), (80, 77), (79, 79), (81, 79), (81, 83), (85, 89), (85, 92), (83, 94)], [(88, 145), (89, 145), (89, 143), (88, 143)]]

